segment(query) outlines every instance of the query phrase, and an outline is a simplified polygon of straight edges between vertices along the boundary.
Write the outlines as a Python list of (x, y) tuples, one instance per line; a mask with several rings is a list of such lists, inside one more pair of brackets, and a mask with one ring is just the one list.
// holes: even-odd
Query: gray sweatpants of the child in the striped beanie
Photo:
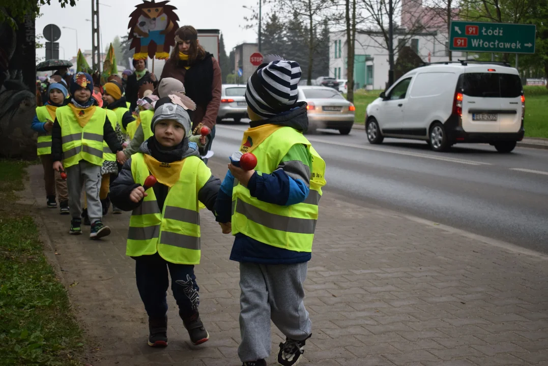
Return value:
[(268, 358), (270, 320), (288, 338), (305, 340), (312, 322), (305, 309), (304, 283), (308, 264), (240, 263), (240, 333), (242, 362)]

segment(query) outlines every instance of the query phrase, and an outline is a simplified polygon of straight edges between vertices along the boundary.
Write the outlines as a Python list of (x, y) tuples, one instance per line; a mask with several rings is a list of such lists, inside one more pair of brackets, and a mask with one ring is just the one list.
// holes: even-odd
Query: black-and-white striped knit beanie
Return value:
[(288, 111), (297, 101), (300, 78), (299, 63), (279, 56), (265, 56), (247, 82), (247, 105), (262, 119)]

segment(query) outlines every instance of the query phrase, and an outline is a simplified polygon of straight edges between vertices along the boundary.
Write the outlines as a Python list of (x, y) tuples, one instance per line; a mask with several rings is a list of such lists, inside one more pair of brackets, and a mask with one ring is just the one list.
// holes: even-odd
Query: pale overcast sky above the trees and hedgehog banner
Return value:
[[(17, 1), (17, 0), (13, 0)], [(124, 36), (128, 32), (129, 14), (139, 0), (100, 0), (99, 21), (102, 32), (103, 49), (108, 47), (116, 36)], [(242, 5), (254, 7), (256, 0), (172, 0), (170, 5), (178, 8), (179, 26), (192, 25), (197, 29), (219, 29), (225, 40), (226, 54), (236, 45), (243, 42), (256, 42), (257, 28), (244, 30), (244, 16), (252, 15), (252, 11), (242, 8)], [(230, 6), (229, 6), (230, 5)], [(60, 47), (65, 49), (65, 59), (76, 56), (76, 32), (62, 27), (75, 28), (78, 31), (78, 48), (92, 49), (92, 19), (91, 0), (77, 0), (75, 7), (61, 8), (57, 1), (52, 5), (41, 7), (43, 14), (36, 20), (36, 33), (42, 34), (48, 24), (61, 28)], [(45, 49), (36, 50), (37, 57), (45, 57)], [(63, 58), (63, 50), (59, 49), (59, 57)]]

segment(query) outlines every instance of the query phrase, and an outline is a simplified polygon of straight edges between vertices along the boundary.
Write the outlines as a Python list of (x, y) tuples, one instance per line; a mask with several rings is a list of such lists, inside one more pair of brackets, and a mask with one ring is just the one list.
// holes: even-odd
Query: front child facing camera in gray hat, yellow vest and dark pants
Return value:
[[(125, 162), (111, 184), (112, 204), (133, 211), (126, 254), (136, 261), (137, 288), (149, 316), (152, 347), (167, 346), (168, 268), (179, 316), (192, 344), (209, 339), (198, 313), (194, 274), (201, 253), (198, 201), (214, 212), (220, 180), (199, 158), (197, 145), (189, 142), (192, 123), (183, 105), (173, 104), (170, 97), (157, 101), (154, 135)], [(157, 182), (144, 188), (149, 175)]]

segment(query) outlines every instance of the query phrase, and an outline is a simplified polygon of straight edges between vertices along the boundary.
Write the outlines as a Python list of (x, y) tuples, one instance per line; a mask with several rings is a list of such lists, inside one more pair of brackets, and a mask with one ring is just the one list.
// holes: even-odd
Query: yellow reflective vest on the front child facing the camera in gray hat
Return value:
[[(211, 171), (198, 156), (189, 156), (183, 162), (179, 180), (169, 189), (162, 211), (153, 188), (146, 191), (147, 196), (133, 210), (127, 255), (139, 257), (158, 252), (170, 263), (200, 263), (198, 192), (211, 177)], [(132, 155), (131, 165), (135, 183), (144, 184), (150, 174), (144, 155)]]

